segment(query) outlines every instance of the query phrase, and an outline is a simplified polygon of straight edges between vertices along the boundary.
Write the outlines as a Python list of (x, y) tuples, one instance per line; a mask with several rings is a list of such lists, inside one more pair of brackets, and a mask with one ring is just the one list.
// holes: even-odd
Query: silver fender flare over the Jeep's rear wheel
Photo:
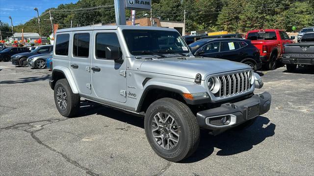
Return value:
[(78, 93), (78, 87), (74, 81), (74, 78), (72, 76), (72, 73), (70, 71), (69, 68), (65, 67), (65, 66), (54, 66), (53, 69), (52, 69), (52, 75), (51, 75), (51, 79), (52, 79), (52, 84), (53, 84), (53, 87), (54, 87), (54, 84), (55, 84), (55, 80), (53, 80), (53, 74), (55, 72), (61, 72), (64, 77), (67, 79), (71, 89), (72, 89), (72, 92), (73, 93)]

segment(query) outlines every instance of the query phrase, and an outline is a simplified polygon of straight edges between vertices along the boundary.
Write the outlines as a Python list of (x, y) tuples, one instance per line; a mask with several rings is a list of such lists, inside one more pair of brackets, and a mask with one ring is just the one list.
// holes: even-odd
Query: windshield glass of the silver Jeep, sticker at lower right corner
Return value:
[(151, 52), (170, 53), (167, 51), (171, 50), (173, 53), (189, 52), (182, 37), (175, 31), (124, 29), (123, 35), (133, 55), (151, 55)]

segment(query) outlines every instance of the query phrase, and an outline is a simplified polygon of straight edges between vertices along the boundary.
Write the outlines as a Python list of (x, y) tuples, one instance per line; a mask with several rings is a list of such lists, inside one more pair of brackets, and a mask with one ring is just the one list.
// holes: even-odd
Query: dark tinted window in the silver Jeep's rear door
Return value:
[(88, 57), (89, 55), (89, 34), (75, 34), (73, 40), (73, 55)]

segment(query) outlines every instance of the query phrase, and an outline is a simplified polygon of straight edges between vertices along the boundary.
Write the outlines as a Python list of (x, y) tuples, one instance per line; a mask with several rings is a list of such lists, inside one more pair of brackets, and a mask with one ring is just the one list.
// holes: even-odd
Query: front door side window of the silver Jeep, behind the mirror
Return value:
[(120, 47), (119, 40), (114, 33), (99, 33), (96, 35), (96, 58), (106, 59), (106, 47), (116, 46)]

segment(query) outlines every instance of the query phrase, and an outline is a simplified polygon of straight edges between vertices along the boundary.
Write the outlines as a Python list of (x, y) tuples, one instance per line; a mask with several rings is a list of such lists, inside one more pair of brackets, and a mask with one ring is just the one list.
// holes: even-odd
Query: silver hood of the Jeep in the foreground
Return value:
[(224, 59), (184, 57), (162, 58), (146, 60), (140, 66), (140, 71), (180, 76), (195, 79), (197, 73), (202, 75), (202, 80), (208, 75), (227, 71), (251, 68), (248, 65)]

